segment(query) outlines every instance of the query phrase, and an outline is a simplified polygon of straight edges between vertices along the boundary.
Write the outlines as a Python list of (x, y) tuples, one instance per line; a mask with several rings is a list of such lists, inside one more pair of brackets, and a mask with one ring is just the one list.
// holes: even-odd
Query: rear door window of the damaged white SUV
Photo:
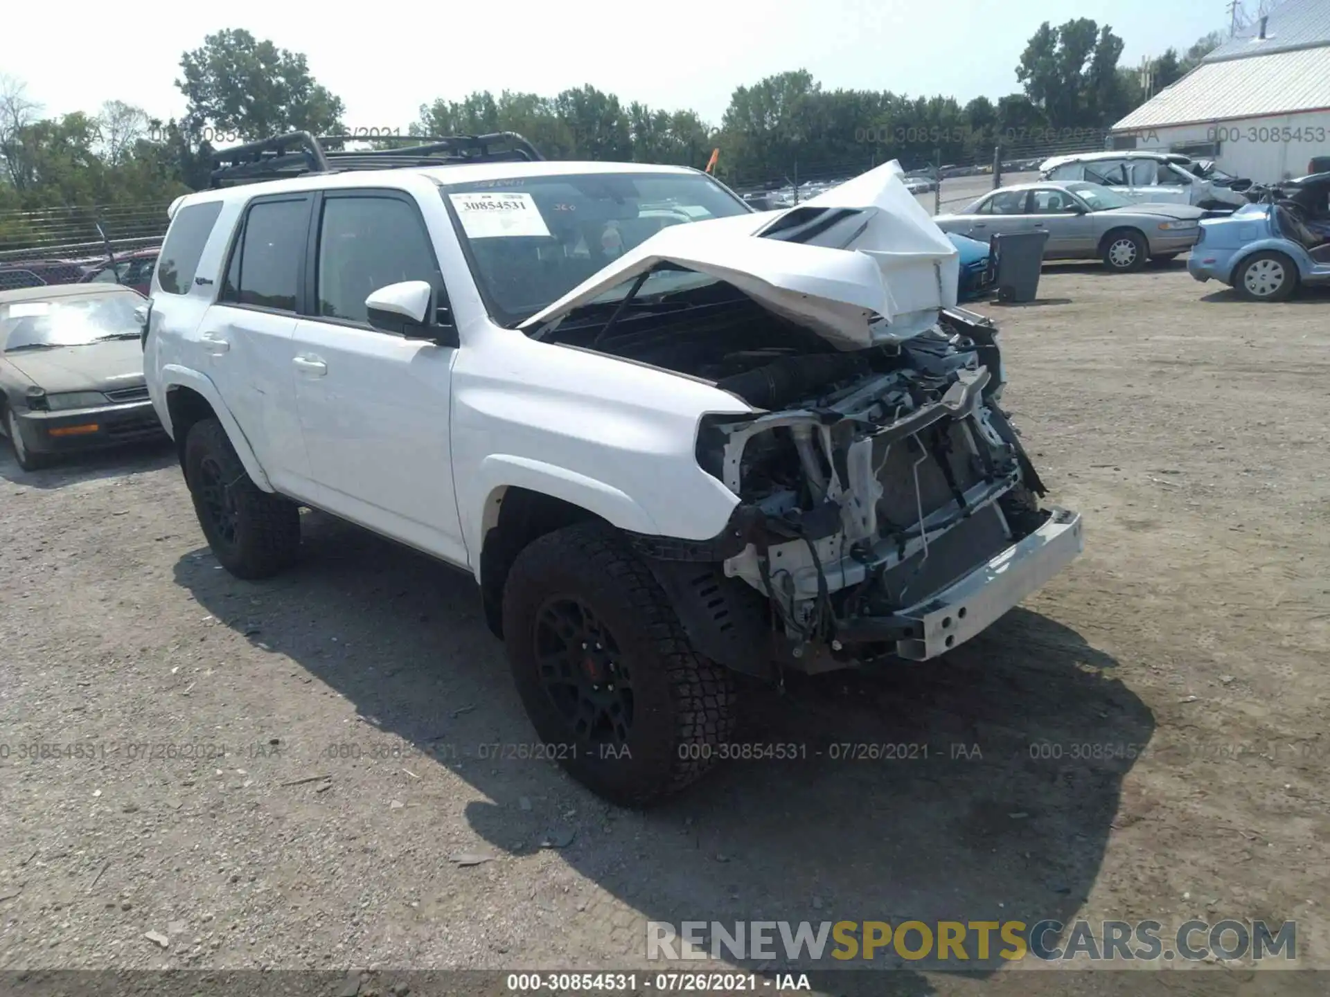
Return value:
[(250, 206), (245, 229), (231, 249), (219, 300), (295, 311), (309, 206), (309, 198), (259, 201)]

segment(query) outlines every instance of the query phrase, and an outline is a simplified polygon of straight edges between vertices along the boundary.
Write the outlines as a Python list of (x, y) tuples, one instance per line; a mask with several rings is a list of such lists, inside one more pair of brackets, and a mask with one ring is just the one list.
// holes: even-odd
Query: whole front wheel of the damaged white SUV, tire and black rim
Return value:
[(734, 728), (730, 674), (692, 649), (654, 576), (604, 524), (548, 533), (517, 556), (503, 631), (547, 756), (613, 803), (682, 790)]

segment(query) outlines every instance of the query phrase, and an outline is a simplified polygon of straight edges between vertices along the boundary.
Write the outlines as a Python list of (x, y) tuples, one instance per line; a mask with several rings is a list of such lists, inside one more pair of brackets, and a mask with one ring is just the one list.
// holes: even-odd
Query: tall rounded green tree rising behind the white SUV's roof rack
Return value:
[(342, 132), (342, 98), (315, 82), (299, 52), (258, 41), (243, 29), (219, 31), (181, 56), (182, 129), (196, 141), (205, 129), (242, 141), (283, 132)]

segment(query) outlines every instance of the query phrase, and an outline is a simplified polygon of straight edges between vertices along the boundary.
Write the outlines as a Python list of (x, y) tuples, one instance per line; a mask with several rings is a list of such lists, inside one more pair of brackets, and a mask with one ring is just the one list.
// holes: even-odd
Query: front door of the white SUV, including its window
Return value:
[(310, 315), (295, 327), (295, 396), (317, 504), (466, 564), (448, 404), (456, 350), (382, 332), (364, 299), (403, 280), (443, 287), (404, 193), (325, 193), (315, 205)]

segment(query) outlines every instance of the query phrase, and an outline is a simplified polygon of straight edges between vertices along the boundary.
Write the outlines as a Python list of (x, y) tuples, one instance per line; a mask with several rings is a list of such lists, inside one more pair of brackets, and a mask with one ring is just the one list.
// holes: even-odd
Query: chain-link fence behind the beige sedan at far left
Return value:
[(166, 225), (160, 203), (0, 211), (0, 291), (86, 280), (144, 290)]

